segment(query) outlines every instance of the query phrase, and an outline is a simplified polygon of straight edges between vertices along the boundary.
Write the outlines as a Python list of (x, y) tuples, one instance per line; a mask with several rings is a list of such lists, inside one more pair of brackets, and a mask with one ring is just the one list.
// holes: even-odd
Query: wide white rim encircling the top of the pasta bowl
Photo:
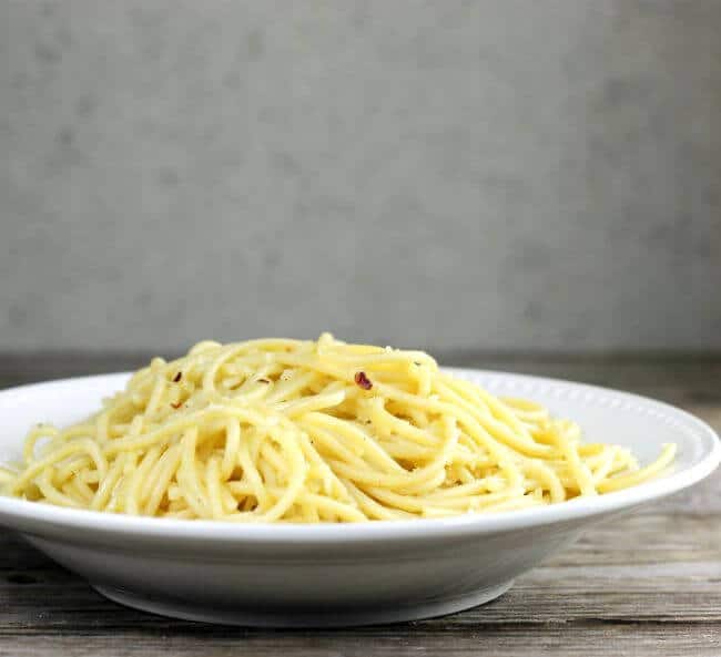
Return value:
[[(378, 542), (417, 538), (443, 538), (496, 534), (600, 519), (615, 512), (631, 509), (672, 493), (682, 491), (709, 476), (721, 462), (721, 440), (715, 431), (695, 415), (656, 399), (605, 388), (579, 383), (566, 379), (538, 377), (499, 370), (475, 368), (443, 368), (460, 376), (483, 376), (522, 380), (529, 384), (542, 384), (559, 389), (571, 388), (579, 393), (612, 396), (619, 400), (654, 407), (664, 414), (671, 414), (691, 428), (704, 445), (704, 453), (695, 463), (674, 471), (660, 479), (597, 495), (577, 497), (548, 506), (504, 511), (492, 514), (463, 514), (443, 519), (414, 519), (399, 521), (370, 521), (367, 523), (321, 523), (321, 524), (277, 524), (277, 523), (233, 523), (207, 520), (176, 520), (113, 514), (99, 511), (68, 509), (52, 504), (29, 502), (0, 495), (0, 525), (20, 532), (32, 526), (32, 533), (43, 534), (43, 527), (52, 530), (77, 530), (99, 536), (119, 536), (180, 541), (213, 541), (247, 544), (344, 544), (353, 542)], [(0, 390), (0, 398), (8, 394), (27, 394), (33, 389), (52, 386), (68, 386), (89, 382), (118, 382), (124, 384), (132, 372), (112, 372), (87, 377), (71, 377), (19, 386)], [(0, 461), (1, 462), (1, 461)]]

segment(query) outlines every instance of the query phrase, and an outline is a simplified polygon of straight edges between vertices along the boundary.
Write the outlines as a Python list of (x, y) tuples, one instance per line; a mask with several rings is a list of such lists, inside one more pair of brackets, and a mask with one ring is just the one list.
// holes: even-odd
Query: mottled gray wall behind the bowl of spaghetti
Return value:
[(721, 1), (0, 11), (0, 350), (721, 349)]

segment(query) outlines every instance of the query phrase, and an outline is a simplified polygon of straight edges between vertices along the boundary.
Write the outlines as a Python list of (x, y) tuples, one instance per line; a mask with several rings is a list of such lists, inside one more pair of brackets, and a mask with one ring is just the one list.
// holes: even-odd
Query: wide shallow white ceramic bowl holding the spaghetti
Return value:
[[(629, 446), (642, 462), (653, 459), (661, 443), (676, 442), (676, 466), (654, 481), (597, 497), (441, 520), (240, 525), (113, 515), (0, 496), (0, 523), (131, 607), (238, 625), (365, 625), (488, 602), (591, 524), (686, 489), (719, 464), (713, 430), (670, 406), (566, 381), (451, 371), (494, 393), (534, 399), (576, 420), (586, 440)], [(108, 374), (0, 392), (0, 462), (19, 458), (32, 423), (78, 421), (126, 379), (125, 373)]]

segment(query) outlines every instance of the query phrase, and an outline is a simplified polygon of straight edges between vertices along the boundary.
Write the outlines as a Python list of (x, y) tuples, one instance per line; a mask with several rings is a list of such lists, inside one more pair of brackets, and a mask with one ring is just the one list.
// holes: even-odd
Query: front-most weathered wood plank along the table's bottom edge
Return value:
[(718, 625), (595, 624), (535, 627), (498, 626), (459, 634), (438, 627), (397, 626), (353, 632), (270, 632), (197, 626), (91, 632), (58, 636), (0, 634), (1, 657), (719, 657)]

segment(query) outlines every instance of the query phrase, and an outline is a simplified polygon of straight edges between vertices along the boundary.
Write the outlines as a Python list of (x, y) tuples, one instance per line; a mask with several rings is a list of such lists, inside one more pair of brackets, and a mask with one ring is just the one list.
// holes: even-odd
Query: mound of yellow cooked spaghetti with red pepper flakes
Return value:
[(231, 522), (444, 517), (556, 504), (641, 483), (613, 444), (500, 399), (422, 351), (205, 341), (155, 358), (79, 424), (30, 431), (6, 494), (75, 509)]

